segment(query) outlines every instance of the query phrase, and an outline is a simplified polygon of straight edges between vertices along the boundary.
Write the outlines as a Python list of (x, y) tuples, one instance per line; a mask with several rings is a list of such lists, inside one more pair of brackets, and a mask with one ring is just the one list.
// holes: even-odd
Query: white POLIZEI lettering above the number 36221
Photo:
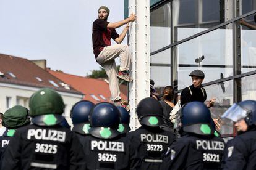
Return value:
[(202, 148), (203, 150), (224, 150), (224, 142), (221, 141), (210, 141), (210, 140), (196, 140), (197, 149)]

